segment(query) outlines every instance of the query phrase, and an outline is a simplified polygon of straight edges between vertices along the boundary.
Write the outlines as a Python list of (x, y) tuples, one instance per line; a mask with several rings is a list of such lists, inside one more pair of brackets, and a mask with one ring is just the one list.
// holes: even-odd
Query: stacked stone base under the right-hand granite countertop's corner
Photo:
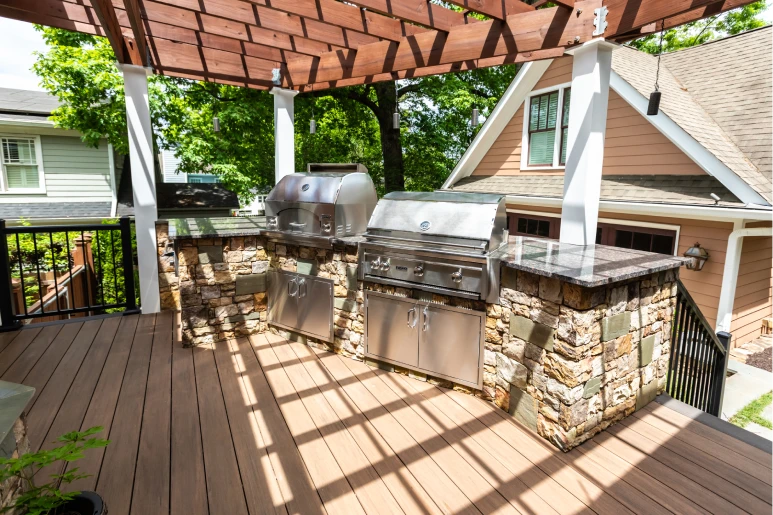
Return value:
[(599, 288), (503, 270), (483, 396), (568, 450), (665, 388), (677, 271)]

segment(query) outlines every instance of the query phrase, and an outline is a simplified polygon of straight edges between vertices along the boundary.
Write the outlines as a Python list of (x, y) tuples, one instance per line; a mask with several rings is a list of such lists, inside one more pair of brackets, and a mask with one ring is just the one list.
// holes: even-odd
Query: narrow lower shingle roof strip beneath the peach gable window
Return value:
[[(564, 193), (562, 175), (472, 175), (452, 186), (459, 191), (503, 193), (526, 197), (560, 199)], [(719, 205), (742, 207), (722, 183), (710, 175), (604, 175), (601, 200), (647, 202), (652, 204)]]

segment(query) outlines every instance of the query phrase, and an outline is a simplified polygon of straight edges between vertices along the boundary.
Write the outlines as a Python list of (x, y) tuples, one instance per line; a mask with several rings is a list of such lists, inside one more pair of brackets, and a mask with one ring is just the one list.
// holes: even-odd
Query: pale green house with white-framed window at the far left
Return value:
[(0, 218), (115, 214), (116, 159), (107, 141), (92, 148), (48, 119), (56, 98), (0, 88)]

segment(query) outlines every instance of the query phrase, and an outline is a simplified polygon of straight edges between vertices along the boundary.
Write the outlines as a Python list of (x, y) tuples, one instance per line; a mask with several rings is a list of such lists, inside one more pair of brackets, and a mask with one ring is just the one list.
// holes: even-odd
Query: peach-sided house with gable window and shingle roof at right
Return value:
[[(657, 116), (657, 58), (620, 47), (612, 60), (597, 243), (676, 255), (700, 243), (709, 260), (682, 281), (734, 345), (773, 313), (773, 229), (730, 237), (773, 227), (771, 47), (766, 27), (663, 55)], [(511, 234), (558, 238), (571, 80), (571, 56), (525, 65), (444, 188), (507, 194)]]

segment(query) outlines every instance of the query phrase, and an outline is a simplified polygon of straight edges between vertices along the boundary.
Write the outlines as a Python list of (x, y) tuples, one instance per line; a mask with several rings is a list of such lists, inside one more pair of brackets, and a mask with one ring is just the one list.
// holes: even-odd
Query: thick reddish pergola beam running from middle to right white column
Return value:
[(298, 58), (287, 63), (283, 87), (331, 82), (381, 73), (533, 52), (582, 43), (592, 39), (593, 10), (601, 0), (577, 2), (582, 12), (562, 7), (453, 27), (447, 34), (422, 33), (399, 43), (381, 42), (358, 50), (330, 52), (318, 58)]

